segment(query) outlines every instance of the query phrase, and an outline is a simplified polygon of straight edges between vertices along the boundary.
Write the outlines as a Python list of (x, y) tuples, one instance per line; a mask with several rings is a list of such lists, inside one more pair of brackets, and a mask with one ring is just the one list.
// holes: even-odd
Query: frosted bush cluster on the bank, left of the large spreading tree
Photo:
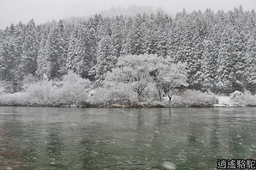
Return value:
[(0, 95), (1, 105), (81, 106), (88, 100), (91, 82), (70, 71), (62, 81), (40, 80), (23, 86), (22, 92)]

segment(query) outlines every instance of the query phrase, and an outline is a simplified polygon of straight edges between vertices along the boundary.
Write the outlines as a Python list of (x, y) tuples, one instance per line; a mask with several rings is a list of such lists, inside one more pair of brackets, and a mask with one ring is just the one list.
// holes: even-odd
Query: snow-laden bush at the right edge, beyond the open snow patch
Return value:
[(236, 97), (233, 97), (230, 100), (230, 103), (233, 103), (232, 105), (241, 105), (241, 106), (256, 106), (256, 95), (252, 95), (252, 93), (248, 90), (246, 90), (241, 95), (236, 95)]

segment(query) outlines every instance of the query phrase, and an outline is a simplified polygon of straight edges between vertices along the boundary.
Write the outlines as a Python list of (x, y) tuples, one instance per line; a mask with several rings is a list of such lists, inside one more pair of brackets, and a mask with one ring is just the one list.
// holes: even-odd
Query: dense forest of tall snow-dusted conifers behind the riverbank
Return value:
[(0, 80), (5, 92), (22, 90), (28, 75), (62, 80), (70, 70), (103, 85), (124, 55), (155, 54), (185, 63), (190, 89), (230, 93), (256, 87), (256, 14), (185, 9), (102, 18), (18, 23), (0, 31)]

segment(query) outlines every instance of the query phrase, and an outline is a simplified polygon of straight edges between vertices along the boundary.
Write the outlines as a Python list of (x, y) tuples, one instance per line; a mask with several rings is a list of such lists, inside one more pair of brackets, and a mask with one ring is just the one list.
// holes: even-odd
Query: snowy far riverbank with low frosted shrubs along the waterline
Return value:
[(24, 92), (1, 94), (0, 106), (118, 108), (256, 106), (256, 97), (249, 92), (236, 92), (236, 96), (220, 96), (212, 92), (203, 93), (188, 89), (172, 95), (170, 101), (168, 96), (160, 100), (154, 91), (138, 97), (137, 93), (127, 88), (95, 88), (87, 92), (81, 90), (79, 93), (74, 89), (72, 93), (71, 91), (63, 92), (58, 88), (49, 89), (33, 87), (27, 88)]

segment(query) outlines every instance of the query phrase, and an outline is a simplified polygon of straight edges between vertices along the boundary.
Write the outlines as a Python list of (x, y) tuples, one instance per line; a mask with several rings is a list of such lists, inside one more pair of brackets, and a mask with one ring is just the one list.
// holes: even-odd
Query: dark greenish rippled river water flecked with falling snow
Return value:
[(0, 169), (216, 169), (256, 159), (256, 108), (0, 107)]

